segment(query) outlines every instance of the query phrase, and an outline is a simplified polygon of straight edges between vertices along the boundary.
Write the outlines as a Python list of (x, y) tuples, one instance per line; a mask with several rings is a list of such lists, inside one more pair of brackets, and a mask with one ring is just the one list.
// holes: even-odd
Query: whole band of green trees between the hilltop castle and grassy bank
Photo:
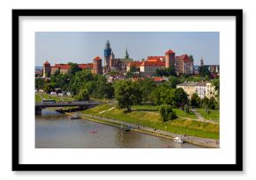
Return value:
[[(70, 63), (71, 68), (66, 74), (60, 74), (56, 71), (50, 79), (35, 79), (35, 88), (42, 89), (49, 93), (56, 88), (69, 91), (77, 100), (88, 100), (90, 97), (107, 98), (117, 100), (120, 108), (126, 108), (131, 112), (132, 105), (137, 104), (156, 104), (162, 105), (160, 112), (162, 119), (175, 119), (176, 114), (172, 108), (181, 108), (189, 112), (189, 107), (204, 107), (207, 109), (218, 108), (219, 102), (219, 80), (213, 81), (218, 91), (216, 98), (207, 97), (200, 99), (195, 93), (189, 99), (183, 89), (177, 89), (178, 83), (185, 81), (199, 82), (204, 80), (203, 76), (169, 76), (169, 81), (164, 83), (155, 83), (152, 78), (138, 78), (137, 81), (125, 79), (109, 83), (106, 76), (93, 75), (90, 71), (79, 68), (78, 64)], [(133, 69), (135, 71), (137, 69)], [(164, 75), (172, 74), (173, 69), (157, 71)], [(172, 74), (173, 75), (173, 74)]]

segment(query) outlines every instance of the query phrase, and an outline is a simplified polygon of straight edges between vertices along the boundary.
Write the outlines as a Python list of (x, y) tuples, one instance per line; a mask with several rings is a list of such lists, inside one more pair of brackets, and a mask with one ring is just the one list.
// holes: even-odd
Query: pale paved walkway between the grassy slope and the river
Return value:
[(180, 137), (181, 139), (184, 140), (184, 142), (192, 143), (192, 144), (199, 145), (199, 146), (206, 147), (206, 148), (219, 148), (219, 140), (215, 140), (215, 139), (200, 138), (200, 137), (188, 136), (188, 135), (178, 134), (178, 133), (169, 133), (166, 131), (158, 130), (158, 129), (147, 127), (147, 126), (138, 126), (138, 125), (120, 121), (117, 119), (102, 118), (102, 117), (90, 115), (90, 114), (79, 113), (79, 116), (81, 118), (85, 118), (85, 119), (96, 118), (96, 119), (102, 119), (102, 120), (104, 120), (106, 122), (110, 122), (110, 123), (112, 122), (112, 123), (119, 123), (121, 125), (123, 124), (125, 126), (132, 126), (132, 128), (134, 130), (137, 130), (137, 131), (142, 130), (142, 131), (140, 131), (141, 133), (159, 134), (162, 136), (169, 137), (170, 139), (173, 139), (175, 137)]

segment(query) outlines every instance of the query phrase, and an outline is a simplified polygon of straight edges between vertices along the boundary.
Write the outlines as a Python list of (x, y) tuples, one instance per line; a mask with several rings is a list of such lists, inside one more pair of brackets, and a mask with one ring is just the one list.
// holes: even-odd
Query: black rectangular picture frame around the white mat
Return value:
[[(235, 164), (21, 164), (19, 162), (19, 17), (181, 16), (236, 18)], [(12, 170), (241, 171), (243, 170), (243, 10), (12, 10)]]

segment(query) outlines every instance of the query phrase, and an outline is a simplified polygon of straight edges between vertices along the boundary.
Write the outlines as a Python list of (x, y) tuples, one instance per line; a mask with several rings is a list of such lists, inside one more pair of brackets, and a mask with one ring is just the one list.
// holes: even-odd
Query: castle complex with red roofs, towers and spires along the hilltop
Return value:
[[(147, 56), (147, 59), (141, 61), (133, 61), (130, 58), (126, 49), (124, 58), (116, 58), (110, 47), (109, 40), (105, 44), (104, 63), (102, 64), (102, 58), (95, 56), (90, 63), (78, 64), (79, 68), (92, 72), (93, 74), (108, 74), (110, 71), (116, 71), (120, 75), (126, 76), (126, 74), (133, 67), (136, 72), (140, 72), (146, 76), (153, 76), (157, 72), (157, 69), (174, 68), (177, 75), (193, 75), (195, 68), (192, 56), (188, 54), (176, 55), (176, 53), (169, 49), (164, 55)], [(200, 66), (205, 66), (203, 59), (200, 60)], [(66, 74), (68, 69), (71, 68), (71, 64), (58, 63), (51, 66), (49, 61), (44, 61), (42, 64), (42, 77), (50, 77), (59, 71), (61, 74)], [(219, 65), (208, 66), (210, 72), (219, 73)]]

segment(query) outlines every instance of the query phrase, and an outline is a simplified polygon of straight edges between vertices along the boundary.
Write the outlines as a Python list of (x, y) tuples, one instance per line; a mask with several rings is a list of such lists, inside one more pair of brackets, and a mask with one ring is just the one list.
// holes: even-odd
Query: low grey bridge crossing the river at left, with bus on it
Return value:
[(90, 101), (69, 101), (69, 102), (56, 102), (56, 103), (36, 103), (35, 104), (35, 115), (41, 115), (41, 109), (48, 107), (87, 107), (92, 108), (96, 105), (99, 105), (98, 102)]

